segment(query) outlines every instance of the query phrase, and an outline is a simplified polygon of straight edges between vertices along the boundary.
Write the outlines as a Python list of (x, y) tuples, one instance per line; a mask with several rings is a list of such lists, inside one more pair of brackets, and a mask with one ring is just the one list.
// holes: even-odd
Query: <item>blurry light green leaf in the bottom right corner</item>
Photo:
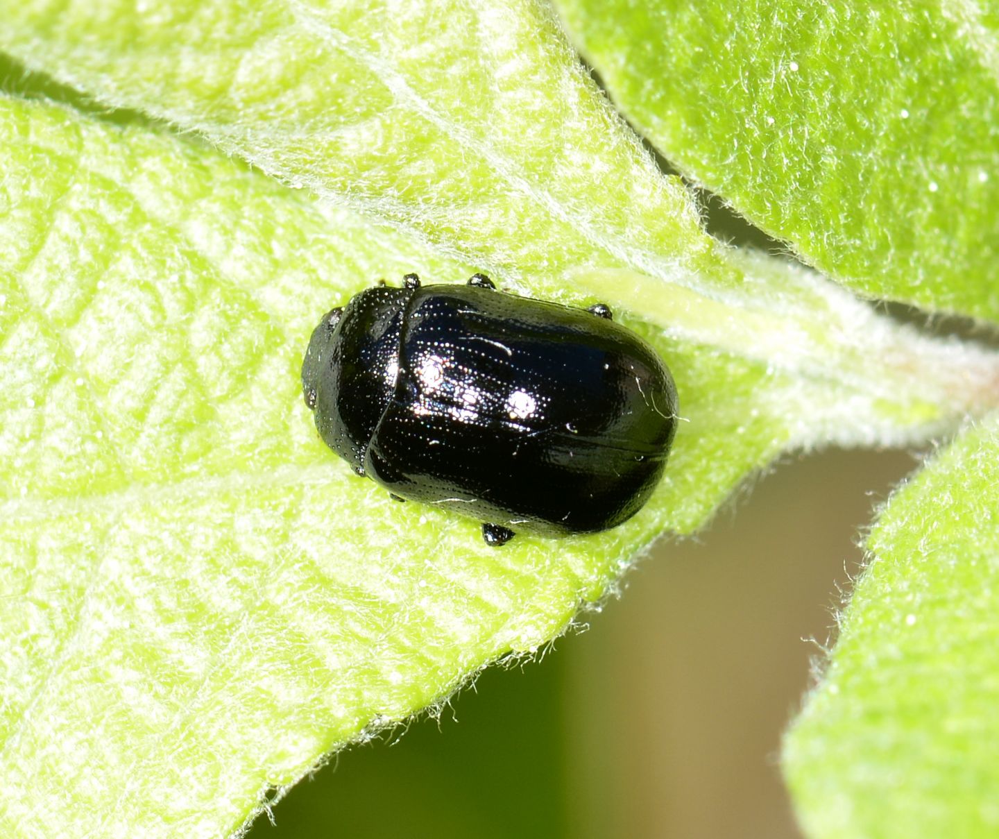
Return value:
[(999, 831), (999, 416), (882, 510), (821, 684), (784, 743), (810, 837)]

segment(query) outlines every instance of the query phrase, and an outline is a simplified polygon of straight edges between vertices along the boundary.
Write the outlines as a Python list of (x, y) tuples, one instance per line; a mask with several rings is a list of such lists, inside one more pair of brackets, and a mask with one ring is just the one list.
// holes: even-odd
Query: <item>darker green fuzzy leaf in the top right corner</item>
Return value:
[(555, 5), (639, 132), (802, 259), (999, 320), (994, 3)]

